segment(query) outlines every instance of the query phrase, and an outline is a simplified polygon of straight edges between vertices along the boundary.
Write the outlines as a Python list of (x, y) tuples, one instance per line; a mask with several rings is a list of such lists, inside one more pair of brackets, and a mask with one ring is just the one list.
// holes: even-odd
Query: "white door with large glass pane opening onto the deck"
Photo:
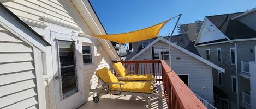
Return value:
[(78, 37), (54, 32), (51, 37), (56, 108), (78, 107), (85, 102)]

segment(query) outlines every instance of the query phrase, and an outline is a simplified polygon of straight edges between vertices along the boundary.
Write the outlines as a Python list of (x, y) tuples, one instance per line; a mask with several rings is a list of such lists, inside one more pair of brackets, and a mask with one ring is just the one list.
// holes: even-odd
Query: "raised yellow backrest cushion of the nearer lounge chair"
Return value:
[(116, 76), (106, 67), (97, 70), (96, 75), (106, 83), (118, 82)]

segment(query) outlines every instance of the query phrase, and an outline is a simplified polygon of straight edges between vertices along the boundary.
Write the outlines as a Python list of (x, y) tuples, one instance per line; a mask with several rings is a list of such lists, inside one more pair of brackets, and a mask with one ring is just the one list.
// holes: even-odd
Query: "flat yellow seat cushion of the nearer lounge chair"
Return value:
[[(140, 93), (153, 93), (154, 84), (152, 82), (124, 82), (121, 85), (122, 91), (125, 92), (140, 92)], [(119, 91), (120, 85), (113, 85), (111, 91)]]

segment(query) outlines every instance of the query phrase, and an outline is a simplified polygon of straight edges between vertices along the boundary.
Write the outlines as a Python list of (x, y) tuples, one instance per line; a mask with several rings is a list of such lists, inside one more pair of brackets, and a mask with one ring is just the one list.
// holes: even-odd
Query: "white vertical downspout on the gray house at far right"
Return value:
[(232, 43), (232, 44), (235, 44), (235, 62), (236, 62), (236, 94), (237, 94), (237, 109), (240, 108), (240, 102), (239, 102), (239, 85), (238, 85), (238, 79), (239, 79), (239, 76), (238, 76), (238, 69), (237, 69), (237, 65), (238, 65), (238, 61), (237, 61), (237, 46), (236, 46), (236, 43), (235, 42), (232, 42), (229, 38), (229, 43)]

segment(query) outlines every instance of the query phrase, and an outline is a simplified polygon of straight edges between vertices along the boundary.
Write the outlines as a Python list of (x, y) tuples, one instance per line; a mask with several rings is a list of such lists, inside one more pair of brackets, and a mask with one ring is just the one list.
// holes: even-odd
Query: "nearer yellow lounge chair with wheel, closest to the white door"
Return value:
[(96, 89), (90, 89), (90, 92), (97, 93), (96, 97), (93, 97), (93, 102), (95, 103), (99, 101), (99, 97), (102, 94), (124, 94), (141, 96), (151, 107), (148, 97), (158, 97), (158, 88), (154, 87), (152, 82), (118, 81), (116, 76), (106, 67), (97, 70), (96, 76), (99, 79), (100, 86)]

